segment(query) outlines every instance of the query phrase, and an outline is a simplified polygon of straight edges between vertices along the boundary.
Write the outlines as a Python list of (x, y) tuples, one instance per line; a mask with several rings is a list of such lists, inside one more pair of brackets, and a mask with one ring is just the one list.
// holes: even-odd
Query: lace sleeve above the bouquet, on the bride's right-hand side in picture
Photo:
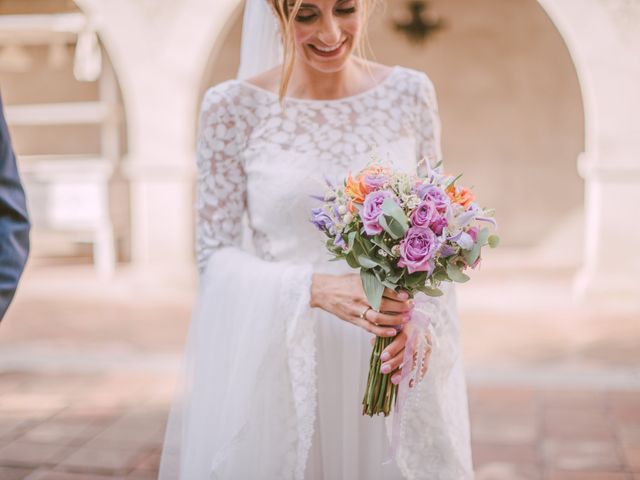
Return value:
[[(425, 74), (420, 75), (417, 89), (417, 155), (418, 161), (425, 158), (432, 166), (442, 161), (440, 147), (440, 115), (433, 83)], [(420, 175), (426, 174), (424, 163), (418, 168)]]

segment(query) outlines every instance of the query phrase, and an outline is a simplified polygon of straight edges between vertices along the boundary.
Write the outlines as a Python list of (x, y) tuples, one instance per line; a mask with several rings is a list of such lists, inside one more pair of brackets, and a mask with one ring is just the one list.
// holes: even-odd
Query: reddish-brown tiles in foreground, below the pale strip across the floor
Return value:
[[(4, 374), (0, 383), (2, 480), (155, 478), (166, 378)], [(74, 383), (82, 386), (70, 389)], [(469, 393), (478, 480), (640, 479), (640, 392)]]

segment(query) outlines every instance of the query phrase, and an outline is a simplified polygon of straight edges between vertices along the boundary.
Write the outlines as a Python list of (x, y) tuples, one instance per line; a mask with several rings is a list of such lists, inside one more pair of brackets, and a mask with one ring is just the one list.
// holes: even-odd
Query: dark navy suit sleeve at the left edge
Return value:
[(0, 98), (0, 320), (29, 254), (29, 218)]

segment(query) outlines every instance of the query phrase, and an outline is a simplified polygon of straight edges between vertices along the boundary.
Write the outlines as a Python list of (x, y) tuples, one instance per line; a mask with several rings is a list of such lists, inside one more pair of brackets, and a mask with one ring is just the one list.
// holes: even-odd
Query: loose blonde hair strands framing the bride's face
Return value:
[[(284, 51), (284, 58), (282, 62), (282, 76), (280, 79), (279, 95), (282, 101), (287, 94), (289, 88), (289, 82), (291, 81), (291, 74), (293, 73), (293, 66), (296, 60), (296, 45), (293, 37), (293, 22), (295, 21), (300, 5), (304, 0), (296, 0), (296, 3), (292, 8), (289, 7), (289, 0), (271, 0), (271, 6), (280, 23), (280, 32), (282, 34), (282, 47)], [(367, 23), (376, 0), (358, 0), (362, 7), (362, 18), (364, 19), (364, 26), (360, 34), (360, 41), (356, 45), (356, 53), (358, 56), (365, 58), (365, 47), (370, 52), (367, 37)]]

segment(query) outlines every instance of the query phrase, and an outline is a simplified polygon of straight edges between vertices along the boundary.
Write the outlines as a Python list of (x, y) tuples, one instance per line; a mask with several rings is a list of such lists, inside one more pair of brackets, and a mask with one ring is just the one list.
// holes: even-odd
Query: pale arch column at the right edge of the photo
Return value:
[(640, 3), (539, 0), (563, 35), (585, 103), (585, 300), (640, 301)]

